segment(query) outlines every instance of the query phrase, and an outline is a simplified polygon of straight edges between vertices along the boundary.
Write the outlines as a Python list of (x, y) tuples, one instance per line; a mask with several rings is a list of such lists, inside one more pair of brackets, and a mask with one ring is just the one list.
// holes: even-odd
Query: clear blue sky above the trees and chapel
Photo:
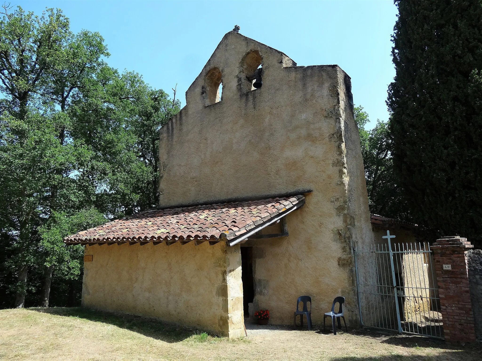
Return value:
[(225, 33), (286, 53), (298, 65), (338, 64), (371, 123), (388, 119), (387, 86), (395, 71), (391, 41), (397, 9), (379, 1), (11, 1), (26, 11), (60, 8), (71, 29), (98, 31), (108, 64), (134, 70), (153, 88), (185, 92)]

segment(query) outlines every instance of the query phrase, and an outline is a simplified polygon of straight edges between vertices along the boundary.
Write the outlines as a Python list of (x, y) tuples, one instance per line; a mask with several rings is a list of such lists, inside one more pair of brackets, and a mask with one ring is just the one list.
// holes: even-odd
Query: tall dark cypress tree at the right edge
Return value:
[(395, 170), (416, 222), (480, 248), (482, 1), (395, 4), (387, 101)]

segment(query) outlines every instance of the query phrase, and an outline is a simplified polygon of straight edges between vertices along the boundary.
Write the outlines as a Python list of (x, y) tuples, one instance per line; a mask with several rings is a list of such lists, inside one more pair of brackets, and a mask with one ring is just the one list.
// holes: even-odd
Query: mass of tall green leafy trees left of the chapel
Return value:
[(180, 102), (108, 56), (100, 34), (73, 34), (59, 9), (4, 7), (0, 307), (14, 294), (38, 304), (52, 270), (55, 299), (74, 304), (83, 248), (62, 237), (157, 205), (159, 129)]

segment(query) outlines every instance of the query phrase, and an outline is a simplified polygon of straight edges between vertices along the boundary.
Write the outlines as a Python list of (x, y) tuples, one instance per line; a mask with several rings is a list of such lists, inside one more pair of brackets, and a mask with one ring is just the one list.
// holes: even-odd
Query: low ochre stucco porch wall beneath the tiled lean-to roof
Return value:
[(244, 333), (239, 245), (93, 245), (85, 255), (84, 307)]

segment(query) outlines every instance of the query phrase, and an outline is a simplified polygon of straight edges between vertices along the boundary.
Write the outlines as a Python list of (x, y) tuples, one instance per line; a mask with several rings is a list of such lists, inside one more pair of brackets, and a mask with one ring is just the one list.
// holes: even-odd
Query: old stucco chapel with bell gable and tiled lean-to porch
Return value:
[(351, 248), (373, 232), (339, 66), (296, 66), (227, 33), (161, 128), (159, 157), (158, 209), (65, 239), (90, 245), (83, 306), (238, 337), (248, 303), (289, 324), (308, 295), (317, 324), (344, 296), (357, 327)]

